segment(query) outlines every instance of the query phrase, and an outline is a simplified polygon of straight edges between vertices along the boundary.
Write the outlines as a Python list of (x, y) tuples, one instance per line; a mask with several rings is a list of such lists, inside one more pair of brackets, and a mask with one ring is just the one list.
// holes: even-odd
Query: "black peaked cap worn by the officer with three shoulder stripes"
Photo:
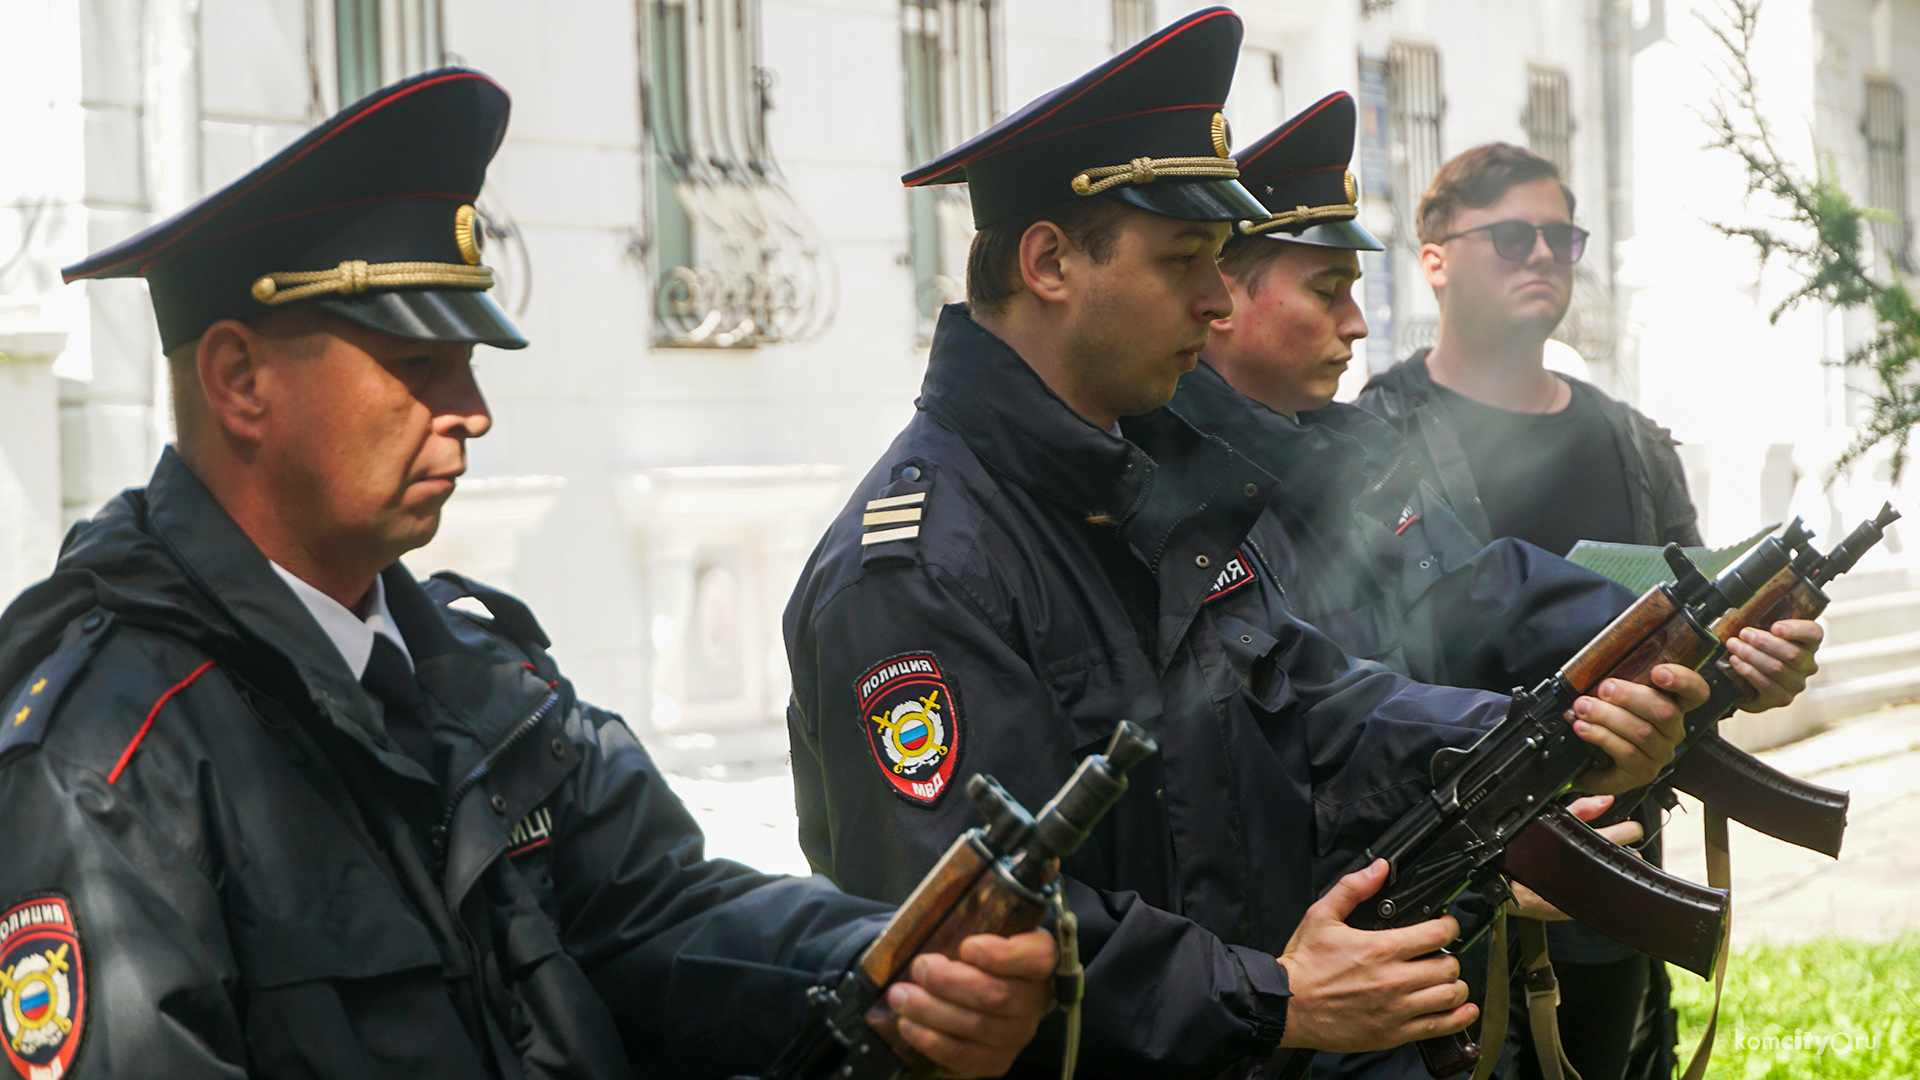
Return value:
[(900, 177), (968, 184), (989, 227), (1091, 194), (1185, 221), (1265, 217), (1235, 181), (1221, 108), (1240, 17), (1208, 8)]

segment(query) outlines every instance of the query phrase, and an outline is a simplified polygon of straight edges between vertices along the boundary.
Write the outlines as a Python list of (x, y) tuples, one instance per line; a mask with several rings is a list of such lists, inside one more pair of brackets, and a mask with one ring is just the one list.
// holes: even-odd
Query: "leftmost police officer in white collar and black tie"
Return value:
[[(397, 563), (492, 423), (472, 346), (526, 344), (472, 206), (505, 125), (420, 75), (69, 267), (146, 277), (179, 442), (0, 621), (0, 1074), (728, 1076), (877, 930), (705, 859), (524, 605)], [(1052, 945), (962, 957), (891, 1003), (996, 1074)]]

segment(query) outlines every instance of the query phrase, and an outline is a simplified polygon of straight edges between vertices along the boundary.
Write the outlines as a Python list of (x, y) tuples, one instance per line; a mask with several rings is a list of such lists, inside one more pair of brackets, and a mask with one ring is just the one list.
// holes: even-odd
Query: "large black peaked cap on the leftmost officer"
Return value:
[(405, 79), (61, 275), (144, 277), (165, 350), (288, 304), (401, 338), (522, 348), (486, 294), (472, 206), (507, 113), (507, 90), (478, 71)]

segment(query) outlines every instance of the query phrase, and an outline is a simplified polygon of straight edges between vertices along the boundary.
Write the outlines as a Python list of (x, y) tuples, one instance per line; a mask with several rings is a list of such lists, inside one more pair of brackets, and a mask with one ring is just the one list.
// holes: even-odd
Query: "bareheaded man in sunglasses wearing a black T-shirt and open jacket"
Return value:
[[(1513, 536), (1555, 555), (1578, 540), (1699, 544), (1672, 436), (1632, 405), (1546, 369), (1546, 342), (1567, 315), (1588, 238), (1572, 211), (1559, 169), (1519, 146), (1476, 146), (1442, 165), (1419, 208), (1438, 342), (1375, 377), (1359, 405), (1400, 429), (1480, 544)], [(1780, 655), (1734, 642), (1734, 671), (1759, 680), (1811, 667), (1818, 625), (1780, 628), (1791, 634), (1763, 642)], [(1657, 813), (1647, 799), (1649, 832)], [(1645, 855), (1659, 863), (1657, 836)], [(1565, 1049), (1580, 1076), (1670, 1076), (1663, 965), (1580, 924), (1553, 924), (1548, 936)]]

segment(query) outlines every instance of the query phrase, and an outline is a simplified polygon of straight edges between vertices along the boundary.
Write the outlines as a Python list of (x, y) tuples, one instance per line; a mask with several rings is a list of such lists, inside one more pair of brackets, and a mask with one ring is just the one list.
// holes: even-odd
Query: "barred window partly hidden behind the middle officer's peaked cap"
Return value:
[[(918, 167), (993, 127), (993, 0), (902, 0), (906, 160)], [(912, 188), (908, 256), (920, 336), (933, 336), (941, 306), (966, 298), (973, 213), (966, 184)]]

